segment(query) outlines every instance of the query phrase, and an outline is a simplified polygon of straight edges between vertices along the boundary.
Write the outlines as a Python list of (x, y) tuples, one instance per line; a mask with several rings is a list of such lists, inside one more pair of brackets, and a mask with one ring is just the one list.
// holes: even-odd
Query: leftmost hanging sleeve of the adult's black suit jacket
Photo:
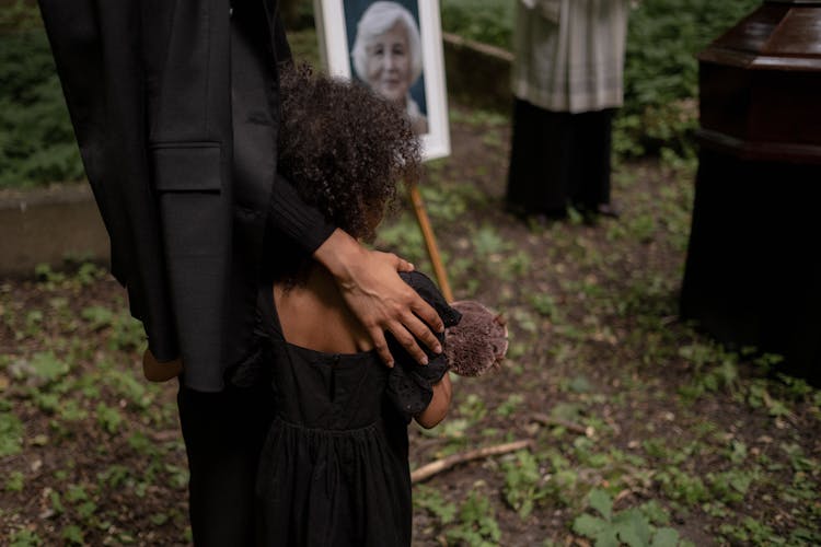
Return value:
[[(85, 174), (111, 237), (112, 274), (127, 288), (153, 354), (178, 357), (165, 256), (147, 161), (137, 0), (39, 0)], [(194, 3), (194, 2), (192, 2)], [(164, 20), (166, 10), (158, 10)], [(135, 47), (137, 45), (138, 47)]]

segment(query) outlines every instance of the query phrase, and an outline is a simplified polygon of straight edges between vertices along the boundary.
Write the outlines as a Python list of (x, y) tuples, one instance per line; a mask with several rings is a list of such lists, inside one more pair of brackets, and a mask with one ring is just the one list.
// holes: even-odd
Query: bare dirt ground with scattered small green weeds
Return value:
[[(507, 119), (451, 117), (423, 195), (455, 298), (501, 312), (510, 351), (410, 428), (412, 467), (531, 445), (416, 485), (415, 545), (591, 545), (628, 517), (631, 545), (821, 543), (818, 391), (678, 319), (692, 168), (618, 165), (621, 219), (528, 224), (501, 203)], [(378, 245), (431, 272), (409, 208)], [(140, 379), (125, 310), (93, 265), (0, 280), (0, 544), (189, 543), (175, 385)]]

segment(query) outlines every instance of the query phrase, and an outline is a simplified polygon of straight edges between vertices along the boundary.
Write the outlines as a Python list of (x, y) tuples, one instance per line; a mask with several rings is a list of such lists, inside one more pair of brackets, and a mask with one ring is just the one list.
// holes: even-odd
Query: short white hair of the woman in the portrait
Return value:
[(373, 2), (357, 24), (357, 37), (350, 57), (354, 70), (359, 79), (367, 81), (368, 44), (384, 34), (396, 23), (402, 23), (407, 31), (408, 51), (410, 54), (410, 82), (421, 74), (421, 37), (416, 20), (403, 5), (396, 2)]

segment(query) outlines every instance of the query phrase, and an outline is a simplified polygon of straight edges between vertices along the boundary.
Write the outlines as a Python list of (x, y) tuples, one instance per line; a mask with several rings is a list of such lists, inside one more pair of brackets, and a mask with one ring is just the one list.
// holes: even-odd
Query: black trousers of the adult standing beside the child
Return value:
[(268, 385), (203, 393), (181, 383), (180, 422), (188, 454), (194, 544), (254, 545), (254, 486), (274, 417)]

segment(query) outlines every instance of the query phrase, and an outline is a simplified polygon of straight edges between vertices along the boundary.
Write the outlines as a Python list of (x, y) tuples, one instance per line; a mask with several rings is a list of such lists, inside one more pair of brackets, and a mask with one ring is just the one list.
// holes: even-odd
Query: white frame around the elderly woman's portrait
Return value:
[[(416, 0), (419, 8), (421, 61), (428, 132), (420, 136), (423, 160), (450, 155), (448, 95), (442, 56), (442, 27), (439, 0)], [(314, 0), (320, 56), (328, 74), (350, 80), (350, 42), (345, 27), (344, 0)], [(352, 36), (350, 37), (354, 38)]]

